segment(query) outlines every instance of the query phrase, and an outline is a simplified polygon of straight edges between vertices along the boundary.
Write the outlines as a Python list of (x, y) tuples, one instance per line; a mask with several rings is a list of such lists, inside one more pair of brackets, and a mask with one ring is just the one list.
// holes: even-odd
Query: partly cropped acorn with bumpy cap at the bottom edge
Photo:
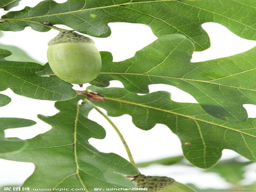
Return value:
[(132, 181), (137, 188), (148, 188), (156, 192), (195, 192), (194, 189), (170, 177), (146, 176), (139, 174)]

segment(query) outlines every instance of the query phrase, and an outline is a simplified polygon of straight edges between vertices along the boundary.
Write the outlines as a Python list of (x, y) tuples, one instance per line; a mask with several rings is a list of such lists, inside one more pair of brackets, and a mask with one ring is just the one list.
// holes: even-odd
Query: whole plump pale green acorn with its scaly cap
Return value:
[(60, 79), (81, 85), (100, 74), (100, 52), (91, 38), (74, 31), (63, 31), (48, 46), (49, 65)]

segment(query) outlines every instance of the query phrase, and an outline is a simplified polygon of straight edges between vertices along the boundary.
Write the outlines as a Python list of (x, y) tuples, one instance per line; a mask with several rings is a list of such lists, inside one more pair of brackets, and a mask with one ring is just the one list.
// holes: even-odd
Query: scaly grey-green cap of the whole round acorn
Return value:
[(56, 37), (49, 41), (48, 46), (59, 43), (92, 43), (90, 37), (80, 35), (74, 31), (61, 31)]

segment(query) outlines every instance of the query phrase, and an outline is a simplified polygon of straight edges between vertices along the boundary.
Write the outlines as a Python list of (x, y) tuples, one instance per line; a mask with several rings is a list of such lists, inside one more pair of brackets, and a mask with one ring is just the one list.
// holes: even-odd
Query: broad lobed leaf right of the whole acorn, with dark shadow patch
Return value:
[(136, 93), (148, 93), (150, 84), (168, 84), (190, 93), (212, 116), (243, 122), (243, 104), (256, 104), (255, 51), (191, 63), (191, 41), (179, 34), (165, 35), (124, 61), (112, 62), (110, 53), (101, 52), (102, 70), (91, 84), (105, 87), (118, 80)]

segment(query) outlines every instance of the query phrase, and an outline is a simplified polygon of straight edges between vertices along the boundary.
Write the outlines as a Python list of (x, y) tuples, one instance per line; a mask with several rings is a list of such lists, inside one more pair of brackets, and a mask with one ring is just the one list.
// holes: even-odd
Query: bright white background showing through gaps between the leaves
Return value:
[[(21, 10), (25, 6), (35, 6), (39, 0), (22, 0), (18, 7), (12, 9)], [(56, 1), (62, 3), (65, 1)], [(1, 10), (1, 15), (5, 14)], [(66, 26), (57, 25), (57, 27), (68, 29)], [(91, 37), (98, 47), (99, 51), (112, 52), (114, 61), (121, 61), (134, 56), (135, 52), (147, 46), (156, 40), (151, 29), (142, 24), (131, 23), (109, 23), (111, 36), (108, 38)], [(255, 41), (242, 39), (231, 33), (227, 28), (217, 23), (205, 23), (203, 28), (207, 31), (211, 39), (211, 47), (203, 52), (194, 52), (192, 62), (217, 59), (227, 57), (237, 53), (247, 51), (256, 45)], [(1, 44), (15, 45), (25, 50), (32, 58), (40, 63), (46, 63), (47, 43), (58, 34), (56, 30), (49, 32), (37, 32), (27, 27), (20, 32), (4, 32), (0, 38)], [(89, 84), (88, 84), (89, 85)], [(86, 87), (87, 85), (84, 85)], [(123, 87), (120, 82), (112, 81), (111, 86)], [(79, 89), (78, 85), (74, 85)], [(171, 99), (177, 102), (194, 102), (196, 100), (188, 93), (183, 92), (170, 85), (150, 85), (150, 92), (165, 90), (172, 93)], [(83, 89), (80, 89), (83, 90)], [(58, 112), (54, 108), (54, 101), (34, 100), (14, 94), (10, 89), (0, 92), (12, 98), (12, 102), (7, 106), (0, 108), (1, 117), (19, 117), (32, 119), (37, 122), (36, 125), (26, 128), (9, 129), (5, 131), (6, 137), (18, 137), (21, 139), (33, 138), (39, 133), (51, 129), (51, 126), (45, 124), (37, 118), (37, 114), (52, 116)], [(249, 117), (256, 117), (256, 106), (245, 104)], [(105, 111), (104, 109), (102, 109)], [(90, 139), (90, 143), (102, 152), (114, 152), (128, 159), (122, 142), (117, 137), (116, 132), (108, 122), (99, 116), (96, 111), (90, 113), (90, 118), (95, 120), (107, 131), (107, 136), (103, 140)], [(142, 131), (132, 124), (131, 116), (111, 117), (120, 131), (123, 133), (135, 159), (135, 162), (143, 162), (164, 158), (169, 156), (182, 155), (180, 140), (173, 134), (169, 128), (163, 124), (157, 124), (150, 131)], [(231, 150), (223, 150), (222, 159), (238, 156)], [(241, 161), (247, 161), (240, 157)], [(255, 182), (256, 163), (246, 167), (246, 179), (243, 184)], [(34, 171), (32, 163), (13, 162), (0, 159), (0, 187), (12, 184), (22, 184), (28, 176)], [(140, 169), (140, 172), (146, 175), (159, 175), (173, 177), (175, 180), (183, 183), (194, 183), (201, 188), (228, 188), (231, 187), (226, 181), (215, 173), (202, 173), (202, 170), (196, 167), (184, 166), (163, 166), (152, 165)]]

